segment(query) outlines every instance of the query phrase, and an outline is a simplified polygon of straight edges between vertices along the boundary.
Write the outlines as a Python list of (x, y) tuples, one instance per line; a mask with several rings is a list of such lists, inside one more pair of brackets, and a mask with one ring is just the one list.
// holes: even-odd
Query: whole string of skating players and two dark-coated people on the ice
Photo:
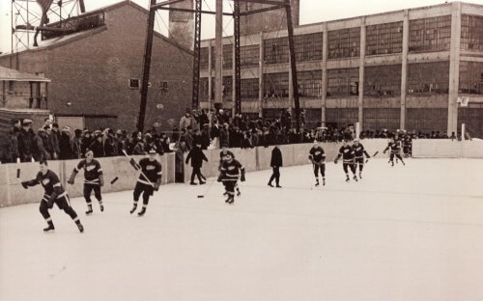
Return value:
[[(399, 159), (403, 163), (403, 165), (405, 165), (404, 160), (400, 155), (402, 144), (404, 145), (404, 142), (401, 139), (398, 139), (397, 136), (395, 136), (394, 138), (390, 139), (387, 147), (383, 151), (385, 153), (386, 151), (390, 150), (389, 163), (391, 163), (392, 166), (394, 166), (395, 157), (396, 161)], [(199, 147), (200, 145), (195, 146), (195, 148)], [(202, 156), (200, 155), (200, 153)], [(374, 154), (374, 156), (376, 154)], [(406, 150), (405, 155), (407, 155)], [(149, 197), (153, 195), (154, 191), (158, 191), (159, 189), (162, 177), (162, 167), (161, 164), (156, 160), (156, 156), (157, 154), (155, 149), (151, 149), (148, 152), (148, 157), (141, 159), (139, 162), (136, 162), (133, 158), (129, 158), (129, 163), (136, 170), (140, 171), (140, 175), (137, 179), (136, 186), (133, 192), (133, 207), (129, 211), (131, 214), (136, 211), (139, 198), (142, 194), (143, 206), (142, 209), (138, 212), (138, 216), (143, 216), (146, 213), (146, 208), (149, 203)], [(199, 156), (201, 156), (202, 159), (197, 158)], [(343, 141), (343, 145), (340, 147), (337, 157), (334, 159), (334, 163), (337, 164), (338, 160), (342, 159), (342, 168), (346, 176), (346, 182), (350, 181), (349, 169), (352, 173), (352, 178), (354, 181), (358, 181), (358, 177), (356, 175), (357, 169), (359, 169), (359, 179), (362, 179), (362, 171), (365, 163), (364, 156), (366, 156), (367, 159), (371, 158), (371, 156), (367, 153), (364, 146), (362, 145), (362, 143), (359, 142), (359, 140), (355, 139), (352, 145), (350, 144), (349, 139), (345, 139)], [(191, 157), (191, 160), (194, 159), (196, 162), (201, 162), (201, 160), (207, 161), (201, 149), (199, 152), (197, 152), (195, 157), (196, 158)], [(326, 155), (324, 149), (319, 145), (319, 142), (314, 141), (314, 145), (309, 151), (308, 159), (312, 163), (315, 176), (315, 186), (320, 185), (319, 173), (322, 176), (322, 185), (325, 186)], [(273, 168), (273, 173), (268, 182), (268, 186), (273, 187), (272, 181), (275, 180), (276, 187), (281, 188), (279, 183), (279, 168), (282, 166), (282, 155), (280, 149), (277, 146), (275, 146), (272, 150), (270, 166)], [(201, 167), (201, 165), (199, 167)], [(191, 184), (193, 183), (195, 174), (198, 175), (200, 184), (204, 184), (204, 182), (202, 182), (202, 178), (204, 177), (202, 175), (200, 177), (199, 167), (193, 166)], [(49, 214), (49, 209), (52, 209), (55, 203), (57, 204), (59, 209), (64, 210), (64, 212), (73, 219), (73, 221), (77, 225), (78, 230), (82, 233), (84, 231), (84, 227), (81, 224), (74, 208), (71, 206), (69, 195), (62, 186), (59, 177), (52, 170), (48, 169), (48, 165), (45, 160), (39, 162), (39, 169), (40, 170), (37, 173), (35, 179), (22, 182), (22, 186), (27, 189), (30, 186), (41, 184), (44, 188), (44, 195), (40, 201), (39, 211), (42, 217), (47, 222), (48, 226), (47, 228), (43, 229), (43, 231), (50, 232), (55, 229), (52, 218)], [(92, 201), (90, 197), (92, 191), (94, 192), (94, 197), (99, 203), (100, 211), (103, 212), (104, 204), (102, 202), (101, 195), (101, 187), (104, 185), (103, 171), (99, 161), (94, 159), (94, 154), (91, 150), (87, 150), (86, 158), (82, 159), (74, 167), (74, 170), (72, 171), (71, 176), (67, 180), (67, 183), (73, 185), (75, 176), (81, 169), (84, 170), (83, 196), (87, 203), (87, 211), (85, 212), (86, 215), (90, 215), (93, 213)], [(239, 161), (235, 159), (234, 154), (227, 149), (226, 145), (223, 145), (223, 149), (220, 152), (220, 162), (218, 170), (219, 176), (217, 181), (223, 183), (225, 189), (223, 195), (227, 196), (225, 202), (228, 204), (233, 204), (235, 199), (235, 190), (237, 191), (237, 196), (240, 196), (241, 194), (237, 183), (239, 180), (241, 182), (245, 181), (245, 168)]]

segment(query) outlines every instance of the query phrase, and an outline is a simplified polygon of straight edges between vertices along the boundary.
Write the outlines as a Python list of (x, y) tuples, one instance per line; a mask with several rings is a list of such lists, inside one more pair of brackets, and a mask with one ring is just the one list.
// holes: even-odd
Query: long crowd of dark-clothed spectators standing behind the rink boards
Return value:
[[(94, 157), (121, 156), (123, 150), (128, 155), (145, 154), (155, 148), (159, 154), (177, 151), (181, 154), (199, 144), (202, 149), (228, 147), (253, 148), (267, 147), (274, 144), (308, 143), (314, 140), (321, 142), (339, 142), (344, 138), (354, 138), (354, 127), (324, 127), (321, 123), (307, 127), (302, 112), (300, 129), (297, 130), (289, 110), (281, 110), (279, 116), (273, 118), (252, 118), (220, 109), (190, 110), (181, 117), (179, 124), (170, 121), (171, 131), (157, 133), (152, 128), (145, 133), (110, 128), (90, 131), (75, 129), (71, 132), (68, 126), (62, 129), (48, 119), (44, 125), (34, 131), (30, 119), (18, 120), (14, 123), (6, 150), (3, 150), (2, 162), (31, 162), (40, 160), (67, 160), (82, 158), (86, 149), (94, 152)], [(410, 135), (416, 138), (451, 138), (461, 139), (461, 135), (446, 132), (421, 133), (412, 131), (363, 131), (359, 138), (390, 138), (395, 134)]]

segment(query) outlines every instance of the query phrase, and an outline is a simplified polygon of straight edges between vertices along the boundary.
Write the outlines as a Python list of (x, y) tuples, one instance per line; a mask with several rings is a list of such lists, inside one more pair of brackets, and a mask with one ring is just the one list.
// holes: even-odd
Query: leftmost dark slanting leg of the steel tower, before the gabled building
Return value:
[[(151, 0), (151, 5), (156, 4), (156, 0)], [(144, 54), (143, 84), (141, 87), (141, 106), (139, 109), (138, 131), (143, 132), (144, 120), (146, 117), (146, 102), (148, 100), (149, 70), (151, 68), (152, 37), (154, 33), (155, 9), (149, 9), (148, 28), (146, 37), (146, 49)]]

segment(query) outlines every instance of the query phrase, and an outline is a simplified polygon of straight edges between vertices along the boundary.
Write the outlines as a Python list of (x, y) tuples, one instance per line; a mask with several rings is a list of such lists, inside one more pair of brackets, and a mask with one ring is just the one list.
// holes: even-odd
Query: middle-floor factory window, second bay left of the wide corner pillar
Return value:
[(364, 73), (364, 96), (401, 95), (401, 65), (366, 67)]

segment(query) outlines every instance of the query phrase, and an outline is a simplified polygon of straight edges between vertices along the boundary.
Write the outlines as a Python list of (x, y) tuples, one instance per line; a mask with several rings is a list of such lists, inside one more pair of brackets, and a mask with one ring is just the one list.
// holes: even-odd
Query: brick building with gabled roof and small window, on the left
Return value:
[[(38, 47), (0, 56), (0, 66), (51, 79), (48, 109), (60, 125), (135, 130), (148, 11), (122, 1), (63, 21), (86, 30), (45, 36)], [(52, 26), (55, 26), (52, 25)], [(169, 128), (191, 105), (192, 52), (155, 33), (145, 129)]]

